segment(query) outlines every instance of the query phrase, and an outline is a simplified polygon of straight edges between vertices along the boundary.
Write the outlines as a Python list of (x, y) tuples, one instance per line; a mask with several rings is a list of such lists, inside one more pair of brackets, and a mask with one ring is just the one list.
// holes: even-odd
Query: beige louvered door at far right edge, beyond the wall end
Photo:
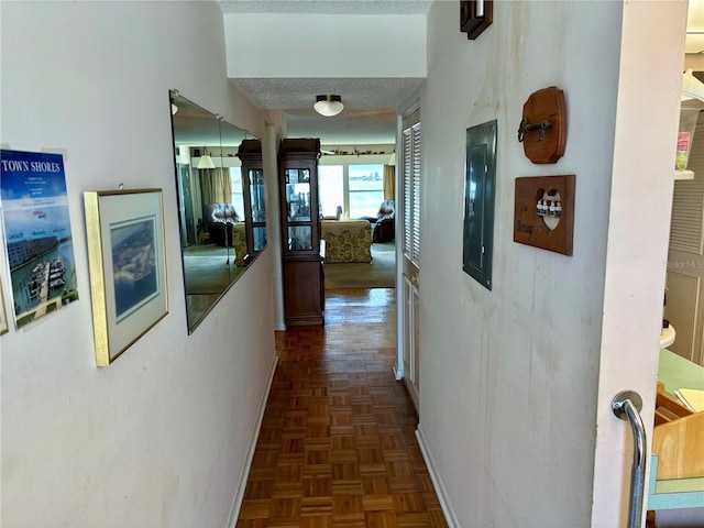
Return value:
[(704, 112), (688, 168), (694, 179), (674, 183), (664, 317), (676, 332), (668, 348), (704, 366)]

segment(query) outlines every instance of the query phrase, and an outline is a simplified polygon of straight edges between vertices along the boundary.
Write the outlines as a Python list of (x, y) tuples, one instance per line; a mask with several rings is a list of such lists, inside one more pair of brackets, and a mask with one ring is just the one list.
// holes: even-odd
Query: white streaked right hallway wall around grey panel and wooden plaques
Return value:
[[(421, 92), (420, 429), (458, 526), (588, 526), (620, 2), (494, 2), (476, 41), (455, 2), (428, 19)], [(517, 141), (564, 90), (553, 165)], [(498, 120), (493, 290), (462, 272), (465, 129)], [(514, 182), (576, 175), (574, 255), (513, 242)]]

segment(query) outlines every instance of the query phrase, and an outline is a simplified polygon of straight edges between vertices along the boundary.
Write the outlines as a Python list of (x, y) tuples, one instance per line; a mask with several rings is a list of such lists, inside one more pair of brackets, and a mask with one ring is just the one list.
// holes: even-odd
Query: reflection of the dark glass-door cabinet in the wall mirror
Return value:
[(266, 248), (266, 206), (264, 201), (264, 170), (262, 168), (262, 142), (243, 140), (238, 148), (242, 162), (242, 190), (246, 217), (246, 256), (249, 264)]

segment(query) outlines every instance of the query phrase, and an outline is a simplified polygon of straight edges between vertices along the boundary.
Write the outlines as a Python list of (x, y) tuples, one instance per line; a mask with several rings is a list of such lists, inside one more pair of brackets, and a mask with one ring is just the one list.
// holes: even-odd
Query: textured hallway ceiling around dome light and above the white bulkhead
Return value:
[[(223, 13), (427, 14), (432, 0), (222, 0)], [(231, 78), (254, 106), (284, 110), (288, 135), (320, 138), (324, 145), (396, 142), (396, 106), (421, 78)], [(323, 118), (312, 110), (317, 95), (334, 94), (344, 110)]]

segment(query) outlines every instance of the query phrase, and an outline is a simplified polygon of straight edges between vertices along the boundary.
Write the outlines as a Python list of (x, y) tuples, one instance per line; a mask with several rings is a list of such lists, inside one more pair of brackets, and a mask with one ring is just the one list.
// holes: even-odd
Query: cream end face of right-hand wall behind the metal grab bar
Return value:
[[(654, 411), (686, 10), (686, 1), (623, 3), (609, 222), (604, 233), (608, 242), (598, 351), (594, 528), (626, 526), (628, 516), (634, 440), (628, 424), (612, 410), (619, 391), (636, 391), (642, 397), (650, 452), (648, 417)], [(649, 471), (647, 457), (646, 482)]]

